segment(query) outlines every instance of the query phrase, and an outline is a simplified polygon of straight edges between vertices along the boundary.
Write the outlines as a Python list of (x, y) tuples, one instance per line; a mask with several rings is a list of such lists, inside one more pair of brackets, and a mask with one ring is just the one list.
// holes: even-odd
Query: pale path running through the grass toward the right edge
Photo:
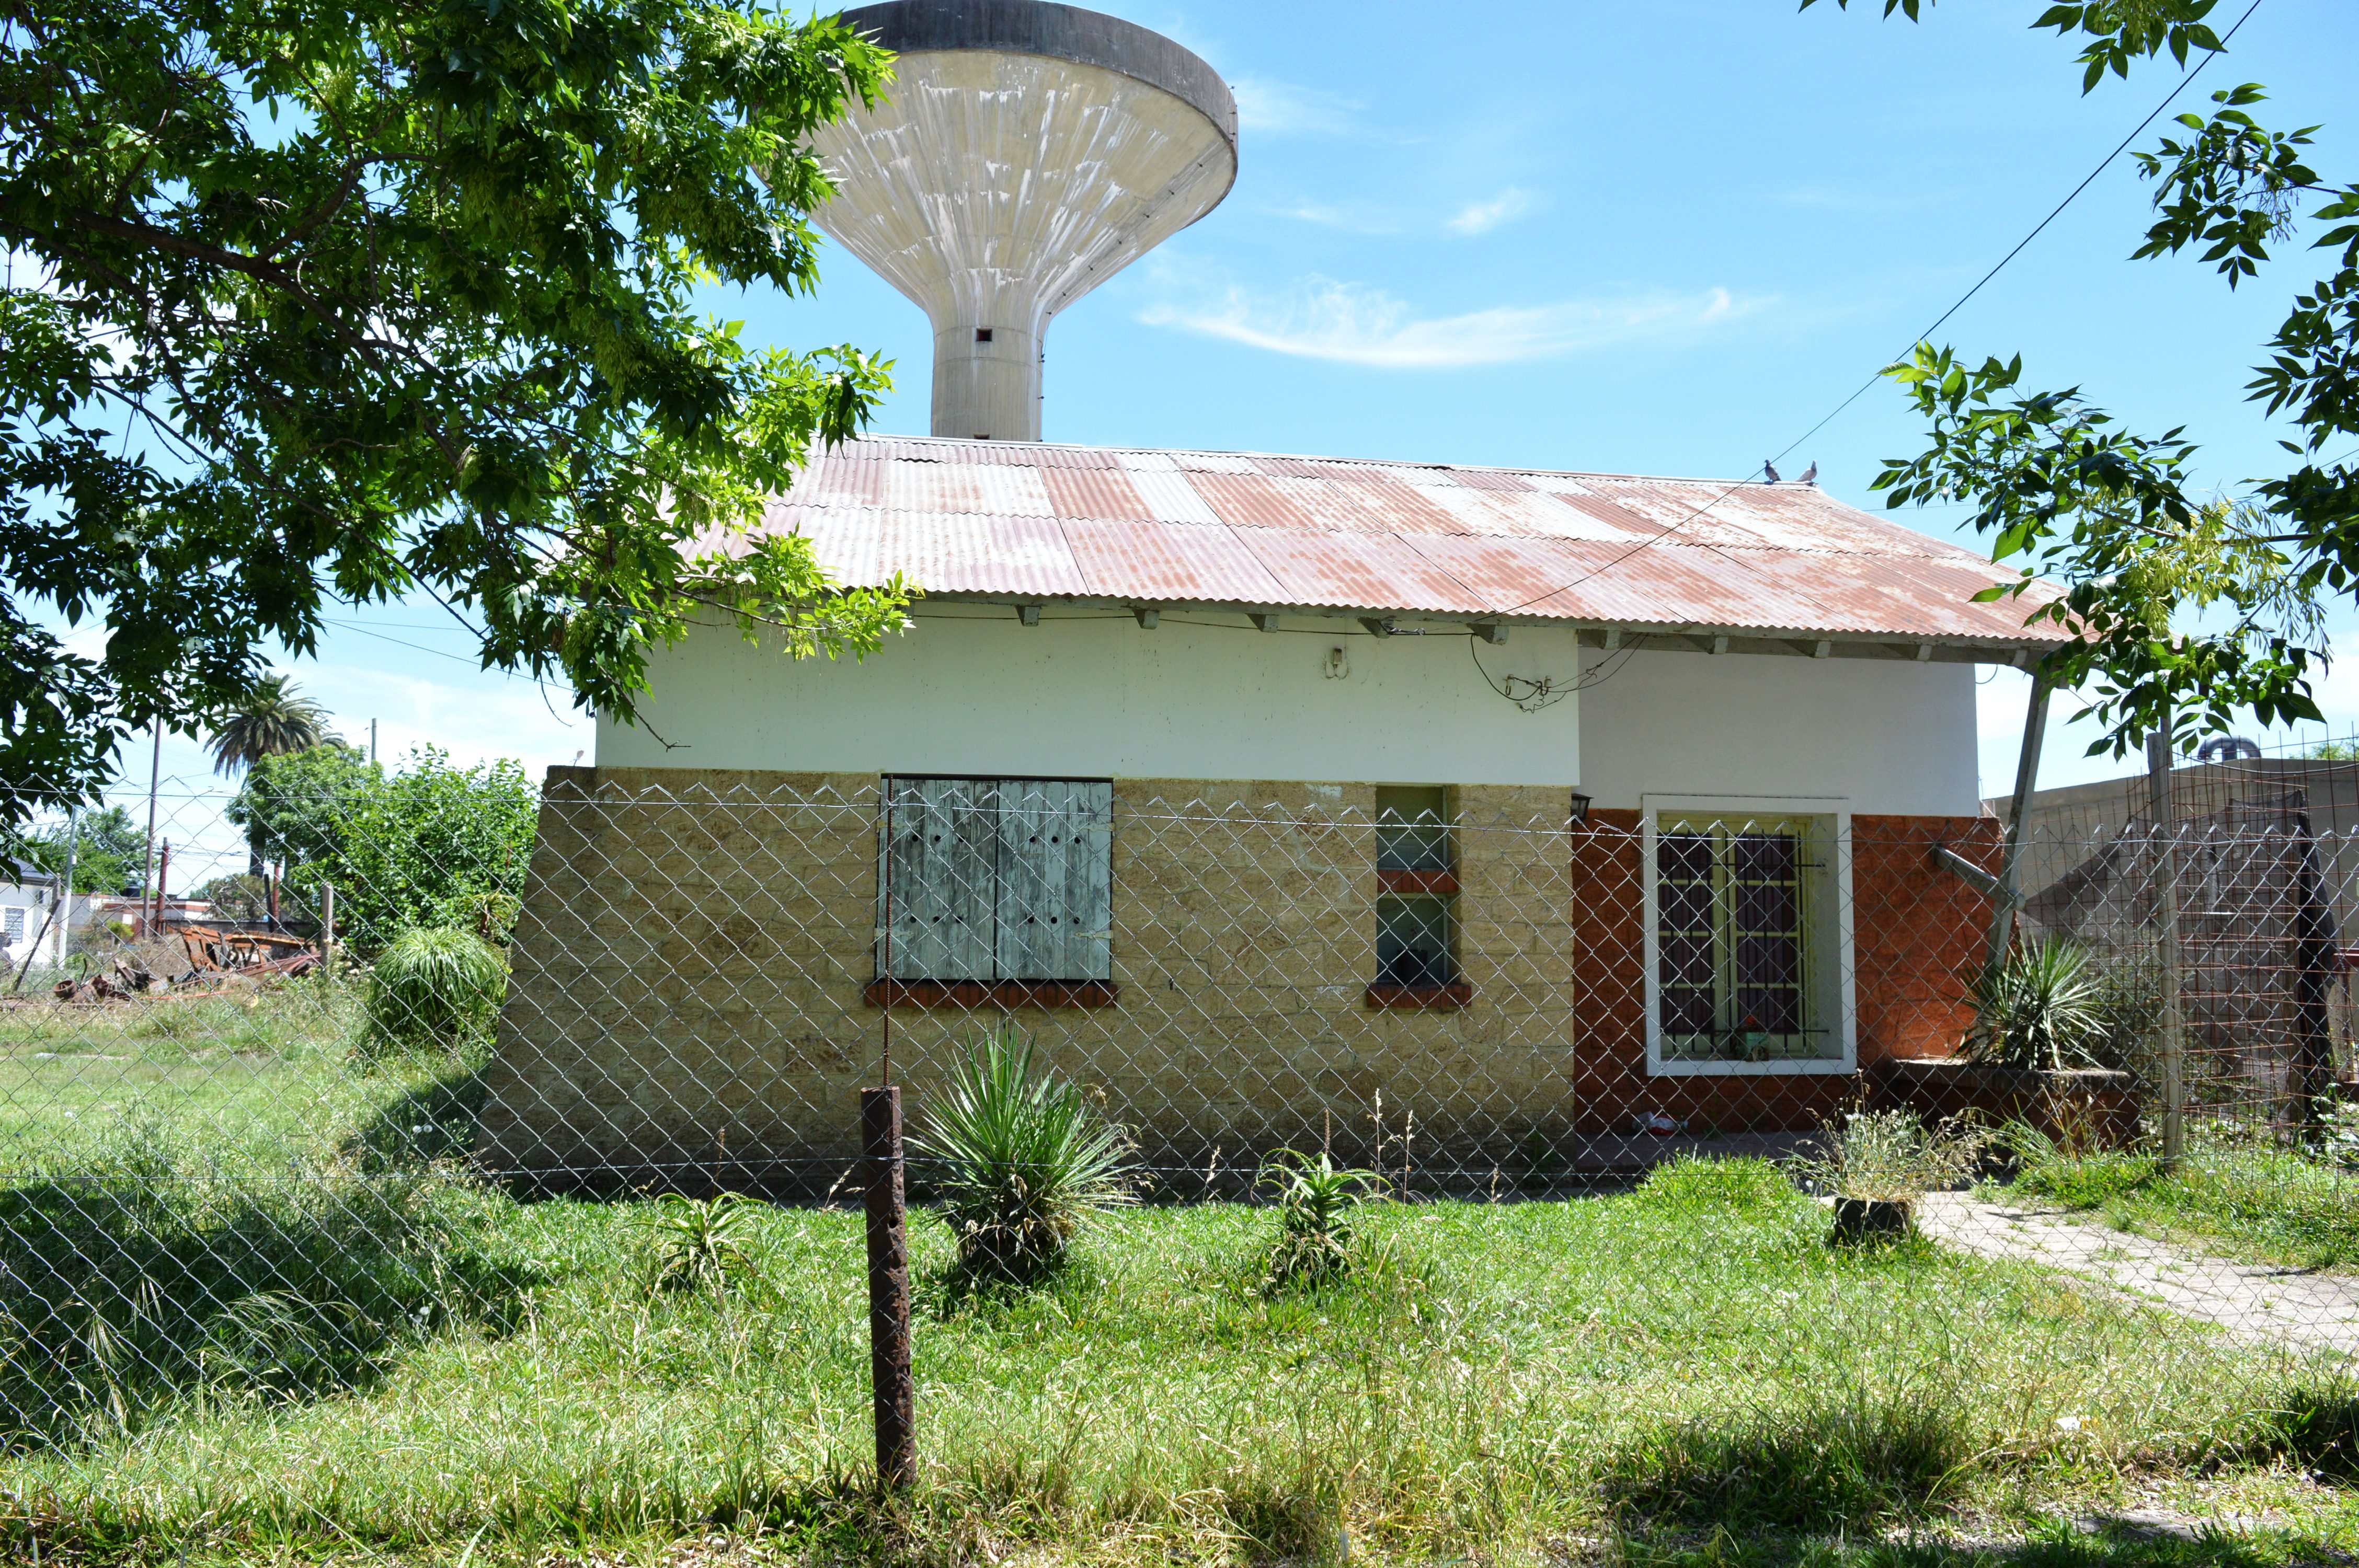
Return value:
[(2239, 1335), (2359, 1353), (2359, 1276), (2232, 1264), (2097, 1219), (1972, 1193), (1927, 1193), (1918, 1228), (1965, 1252), (2045, 1264)]

